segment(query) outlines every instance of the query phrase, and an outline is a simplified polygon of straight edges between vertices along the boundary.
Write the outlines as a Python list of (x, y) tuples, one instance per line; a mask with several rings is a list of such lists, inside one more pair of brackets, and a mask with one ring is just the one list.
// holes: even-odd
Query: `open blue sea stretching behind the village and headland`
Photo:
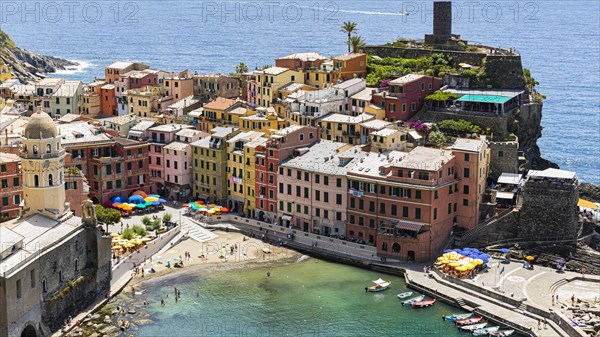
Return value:
[[(62, 72), (84, 81), (115, 60), (154, 68), (228, 73), (299, 51), (336, 55), (339, 31), (358, 24), (369, 44), (432, 30), (432, 1), (0, 1), (0, 28), (22, 48), (82, 62)], [(409, 15), (401, 15), (400, 12)], [(453, 32), (516, 48), (540, 82), (542, 155), (600, 183), (600, 2), (454, 2)]]

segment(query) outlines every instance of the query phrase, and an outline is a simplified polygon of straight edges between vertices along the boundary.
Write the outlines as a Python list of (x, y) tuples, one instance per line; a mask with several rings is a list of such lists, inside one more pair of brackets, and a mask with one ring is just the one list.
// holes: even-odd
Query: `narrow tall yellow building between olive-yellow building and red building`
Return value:
[[(250, 155), (250, 148), (245, 145), (265, 134), (263, 132), (247, 131), (240, 132), (227, 141), (227, 188), (229, 198), (227, 206), (235, 213), (244, 213), (249, 215), (248, 208), (254, 209), (254, 170), (249, 167), (254, 166), (254, 154)], [(266, 141), (266, 138), (263, 138)], [(250, 175), (252, 174), (252, 175)], [(252, 189), (250, 189), (252, 185)], [(252, 200), (246, 197), (246, 194), (252, 196)], [(252, 205), (251, 204), (252, 201)]]

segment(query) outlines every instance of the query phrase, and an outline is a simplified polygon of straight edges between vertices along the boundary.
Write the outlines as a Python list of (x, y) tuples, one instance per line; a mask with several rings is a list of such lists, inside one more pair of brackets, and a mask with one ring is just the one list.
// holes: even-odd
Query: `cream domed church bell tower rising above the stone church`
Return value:
[(23, 143), (23, 215), (40, 213), (57, 220), (69, 211), (65, 203), (65, 150), (54, 121), (41, 109), (29, 118)]

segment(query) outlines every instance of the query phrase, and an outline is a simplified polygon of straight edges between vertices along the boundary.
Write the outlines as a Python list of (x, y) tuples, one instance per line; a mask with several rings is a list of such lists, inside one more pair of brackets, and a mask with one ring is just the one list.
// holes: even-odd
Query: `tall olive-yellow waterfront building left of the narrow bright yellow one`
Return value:
[(193, 190), (197, 198), (221, 203), (227, 200), (227, 141), (237, 127), (215, 127), (210, 137), (191, 143)]

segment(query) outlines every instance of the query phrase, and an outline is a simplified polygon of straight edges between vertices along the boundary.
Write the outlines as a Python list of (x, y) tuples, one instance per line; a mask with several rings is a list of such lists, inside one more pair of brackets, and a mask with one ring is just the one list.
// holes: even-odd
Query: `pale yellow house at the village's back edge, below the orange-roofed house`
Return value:
[(283, 67), (270, 67), (255, 72), (256, 103), (263, 107), (271, 107), (279, 96), (279, 88), (288, 83), (304, 83), (301, 72)]

